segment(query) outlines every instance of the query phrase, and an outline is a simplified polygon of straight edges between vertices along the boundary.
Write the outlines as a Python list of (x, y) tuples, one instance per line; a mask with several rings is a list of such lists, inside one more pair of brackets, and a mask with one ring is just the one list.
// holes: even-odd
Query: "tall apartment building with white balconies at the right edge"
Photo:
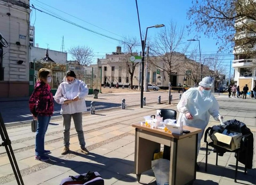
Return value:
[[(249, 10), (250, 6), (250, 2), (246, 3), (245, 1), (244, 7), (240, 7), (236, 11)], [(248, 17), (239, 17), (235, 21), (236, 34), (232, 67), (235, 70), (234, 81), (240, 86), (240, 89), (247, 84), (249, 90), (252, 90), (256, 85), (256, 43), (250, 42), (250, 39), (255, 39), (255, 33), (244, 28), (244, 25), (254, 25), (255, 27), (255, 21)]]

